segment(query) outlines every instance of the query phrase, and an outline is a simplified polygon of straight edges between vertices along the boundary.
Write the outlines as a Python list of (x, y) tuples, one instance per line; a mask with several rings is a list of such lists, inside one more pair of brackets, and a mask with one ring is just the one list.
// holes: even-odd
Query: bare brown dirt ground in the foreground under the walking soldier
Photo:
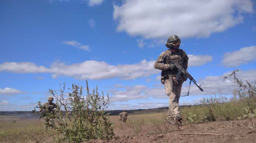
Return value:
[(89, 143), (256, 143), (256, 118), (188, 124), (181, 126), (180, 130), (170, 125), (144, 126), (140, 132), (136, 130), (137, 134), (129, 127), (121, 128), (114, 130), (117, 139), (92, 140)]

